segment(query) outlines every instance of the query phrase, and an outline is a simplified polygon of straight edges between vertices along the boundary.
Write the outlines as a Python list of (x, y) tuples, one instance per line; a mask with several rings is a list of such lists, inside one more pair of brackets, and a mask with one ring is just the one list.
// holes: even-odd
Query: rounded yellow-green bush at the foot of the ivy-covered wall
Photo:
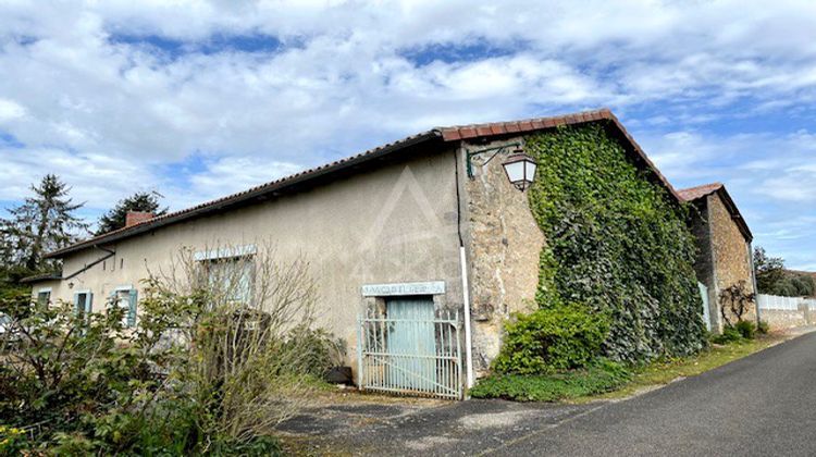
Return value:
[(542, 374), (581, 368), (594, 359), (606, 339), (609, 321), (603, 313), (572, 304), (516, 314), (505, 330), (494, 369)]

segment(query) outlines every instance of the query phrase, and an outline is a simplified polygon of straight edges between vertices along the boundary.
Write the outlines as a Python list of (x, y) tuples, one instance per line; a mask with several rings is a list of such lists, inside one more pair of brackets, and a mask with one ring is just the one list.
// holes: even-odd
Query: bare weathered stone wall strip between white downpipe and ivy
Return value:
[[(519, 140), (465, 148), (474, 151)], [(502, 166), (511, 150), (497, 155), (486, 166), (482, 163), (492, 152), (474, 157), (474, 176), (466, 182), (473, 365), (478, 375), (487, 372), (498, 354), (503, 325), (510, 313), (535, 308), (544, 235), (533, 219), (527, 193), (510, 184)]]

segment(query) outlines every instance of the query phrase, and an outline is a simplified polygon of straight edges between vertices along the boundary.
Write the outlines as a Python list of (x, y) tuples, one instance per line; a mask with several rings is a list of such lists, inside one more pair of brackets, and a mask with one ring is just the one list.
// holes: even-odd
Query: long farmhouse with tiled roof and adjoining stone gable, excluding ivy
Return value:
[[(114, 300), (134, 325), (141, 281), (173, 252), (230, 262), (271, 239), (282, 258), (310, 262), (318, 323), (347, 342), (362, 387), (461, 397), (497, 355), (505, 320), (534, 306), (545, 240), (523, 193), (534, 173), (526, 137), (585, 123), (602, 124), (670, 198), (710, 214), (694, 226), (710, 302), (718, 287), (751, 277), (751, 234), (725, 187), (678, 194), (604, 109), (433, 128), (162, 217), (132, 214), (121, 230), (50, 252), (62, 272), (30, 279), (33, 294), (87, 311)], [(383, 347), (406, 350), (403, 361), (379, 356)], [(421, 374), (397, 375), (408, 371)]]

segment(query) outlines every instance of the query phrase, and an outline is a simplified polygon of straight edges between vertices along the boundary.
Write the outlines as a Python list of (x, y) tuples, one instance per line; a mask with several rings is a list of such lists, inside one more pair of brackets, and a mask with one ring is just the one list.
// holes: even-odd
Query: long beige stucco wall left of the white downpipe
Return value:
[[(373, 166), (373, 165), (372, 165)], [(52, 299), (73, 300), (89, 289), (94, 309), (119, 286), (134, 285), (152, 271), (170, 268), (183, 246), (271, 242), (280, 259), (302, 256), (311, 262), (321, 301), (319, 324), (348, 343), (348, 363), (356, 369), (356, 319), (371, 299), (363, 284), (444, 281), (437, 307), (461, 309), (462, 291), (457, 235), (455, 150), (416, 152), (410, 159), (338, 178), (294, 195), (190, 220), (138, 235), (113, 246), (115, 256), (52, 287)], [(71, 274), (106, 252), (86, 249), (64, 260)], [(73, 284), (69, 288), (67, 283)]]

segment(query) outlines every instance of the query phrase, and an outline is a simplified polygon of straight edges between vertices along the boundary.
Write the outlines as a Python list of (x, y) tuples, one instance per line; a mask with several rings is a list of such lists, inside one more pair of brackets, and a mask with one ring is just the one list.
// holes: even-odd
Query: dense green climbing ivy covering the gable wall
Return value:
[(610, 318), (602, 350), (618, 360), (703, 347), (687, 209), (648, 180), (603, 124), (527, 138), (539, 162), (530, 206), (547, 244), (541, 308), (581, 302)]

